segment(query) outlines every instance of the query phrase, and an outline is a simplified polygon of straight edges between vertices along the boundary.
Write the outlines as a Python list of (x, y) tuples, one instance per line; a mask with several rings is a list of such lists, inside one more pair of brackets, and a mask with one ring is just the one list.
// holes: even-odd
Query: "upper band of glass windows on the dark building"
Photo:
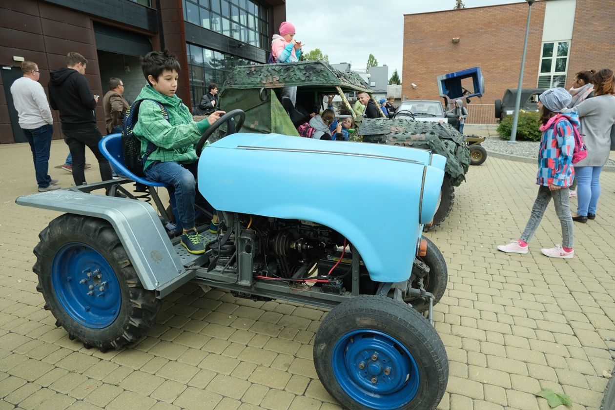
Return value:
[(253, 0), (183, 0), (184, 20), (269, 50), (267, 7)]

